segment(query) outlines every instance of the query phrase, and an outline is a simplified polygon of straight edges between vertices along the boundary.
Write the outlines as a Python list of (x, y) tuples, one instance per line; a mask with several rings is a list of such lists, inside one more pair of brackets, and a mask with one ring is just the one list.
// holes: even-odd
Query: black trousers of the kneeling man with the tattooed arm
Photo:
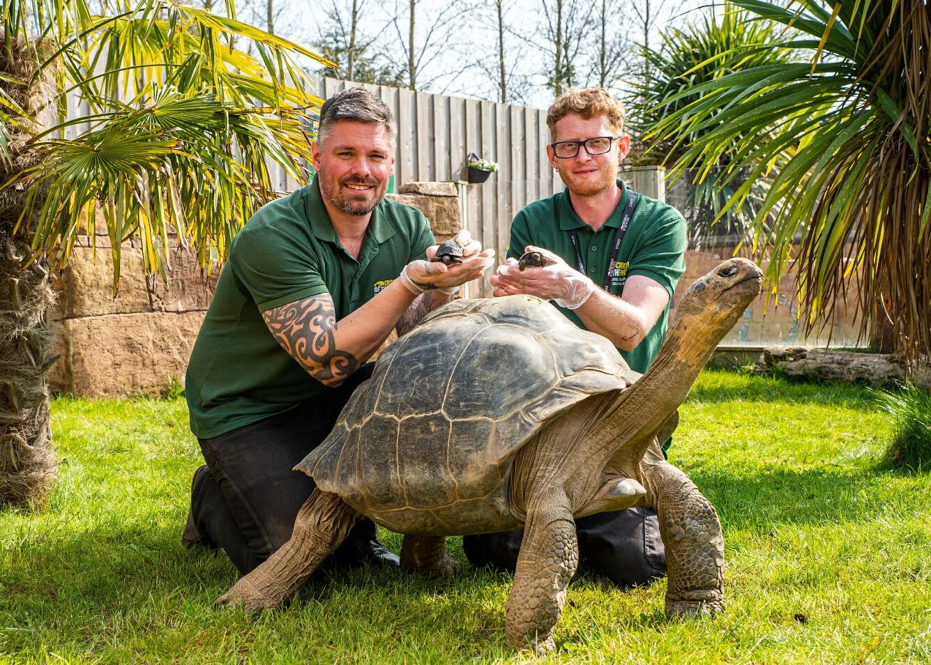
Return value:
[[(246, 574), (288, 542), (297, 512), (316, 486), (292, 469), (331, 432), (372, 367), (360, 367), (338, 388), (286, 413), (198, 439), (207, 464), (191, 484), (191, 519), (201, 544), (222, 548)], [(331, 559), (349, 559), (358, 543), (374, 538), (374, 523), (362, 520)]]

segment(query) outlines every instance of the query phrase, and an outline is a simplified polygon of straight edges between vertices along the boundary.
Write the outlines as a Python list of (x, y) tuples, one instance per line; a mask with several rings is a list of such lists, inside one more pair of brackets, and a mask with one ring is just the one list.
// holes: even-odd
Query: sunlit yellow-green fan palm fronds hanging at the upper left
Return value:
[[(0, 120), (20, 126), (17, 150), (35, 165), (4, 169), (0, 182), (26, 192), (16, 233), (30, 235), (35, 257), (61, 266), (78, 233), (96, 242), (102, 222), (115, 287), (129, 237), (140, 238), (148, 273), (164, 277), (169, 233), (210, 270), (251, 213), (277, 195), (275, 169), (305, 180), (304, 131), (323, 100), (294, 58), (331, 63), (236, 20), (232, 2), (226, 16), (173, 0), (100, 6), (101, 14), (85, 0), (5, 5), (0, 59), (32, 54), (32, 80), (52, 73), (58, 86), (59, 122), (35, 126), (31, 118), (48, 109), (17, 104), (7, 91), (28, 82), (0, 67)], [(247, 42), (257, 57), (242, 49)], [(80, 121), (64, 114), (74, 94), (90, 109)], [(63, 140), (65, 130), (79, 133)]]

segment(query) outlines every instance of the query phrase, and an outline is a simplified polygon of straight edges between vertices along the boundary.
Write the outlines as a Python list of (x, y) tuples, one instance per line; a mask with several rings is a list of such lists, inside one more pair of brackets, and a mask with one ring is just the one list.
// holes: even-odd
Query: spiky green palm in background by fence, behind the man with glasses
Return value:
[[(675, 28), (663, 35), (663, 45), (657, 51), (646, 51), (650, 62), (649, 78), (637, 87), (631, 104), (632, 125), (644, 140), (641, 162), (674, 163), (698, 136), (716, 136), (729, 116), (735, 114), (739, 101), (732, 90), (722, 87), (722, 77), (732, 74), (737, 80), (747, 77), (745, 70), (784, 78), (792, 66), (786, 49), (774, 46), (781, 29), (774, 24), (745, 20), (734, 6), (725, 5), (722, 17), (708, 12), (685, 28)], [(806, 67), (806, 64), (797, 65)], [(748, 79), (749, 80), (749, 79)], [(737, 92), (734, 90), (733, 92)], [(749, 94), (745, 88), (744, 94)], [(807, 92), (797, 91), (803, 100)], [(700, 113), (711, 103), (716, 114)], [(679, 118), (677, 130), (668, 131), (656, 140), (659, 128), (668, 127), (666, 120), (673, 114)], [(742, 147), (739, 137), (732, 140), (732, 151)], [(689, 220), (691, 246), (714, 244), (715, 238), (749, 239), (753, 219), (766, 195), (765, 180), (747, 182), (749, 166), (736, 166), (731, 155), (717, 161), (708, 160), (695, 169), (685, 183), (686, 197), (680, 204)], [(684, 167), (673, 167), (673, 178), (684, 175)], [(726, 175), (726, 181), (721, 181)], [(680, 185), (681, 186), (681, 185)], [(735, 193), (742, 192), (739, 201)]]

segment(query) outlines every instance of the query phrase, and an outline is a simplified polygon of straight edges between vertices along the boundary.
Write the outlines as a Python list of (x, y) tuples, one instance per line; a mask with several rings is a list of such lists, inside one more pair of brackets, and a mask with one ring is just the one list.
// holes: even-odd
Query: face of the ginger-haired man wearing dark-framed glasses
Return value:
[[(604, 115), (592, 115), (586, 120), (579, 113), (566, 113), (553, 126), (554, 143), (617, 134), (618, 128), (611, 126)], [(585, 148), (580, 148), (574, 157), (559, 159), (550, 146), (546, 146), (546, 154), (549, 163), (559, 171), (560, 178), (571, 192), (579, 196), (595, 196), (615, 186), (617, 169), (629, 148), (630, 140), (621, 137), (614, 140), (611, 150), (603, 154), (588, 154)]]

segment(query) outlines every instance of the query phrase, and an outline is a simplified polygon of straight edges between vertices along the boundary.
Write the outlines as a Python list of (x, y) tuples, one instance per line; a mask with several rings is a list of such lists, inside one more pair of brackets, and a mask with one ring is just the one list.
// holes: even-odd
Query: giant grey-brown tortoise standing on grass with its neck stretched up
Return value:
[(402, 565), (439, 574), (454, 569), (444, 536), (522, 526), (507, 638), (548, 651), (578, 563), (573, 518), (651, 506), (666, 546), (666, 611), (720, 611), (717, 513), (658, 442), (761, 284), (747, 259), (696, 281), (642, 377), (541, 299), (444, 305), (388, 348), (296, 467), (317, 488), (291, 539), (217, 602), (279, 605), (362, 515), (406, 534)]

